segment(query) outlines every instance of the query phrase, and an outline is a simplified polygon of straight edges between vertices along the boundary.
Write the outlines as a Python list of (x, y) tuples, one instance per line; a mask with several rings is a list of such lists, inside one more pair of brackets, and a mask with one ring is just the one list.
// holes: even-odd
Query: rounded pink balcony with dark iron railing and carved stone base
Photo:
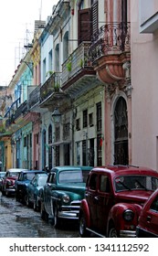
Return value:
[(122, 65), (131, 59), (130, 23), (106, 24), (93, 35), (90, 59), (100, 80), (113, 83), (123, 80)]

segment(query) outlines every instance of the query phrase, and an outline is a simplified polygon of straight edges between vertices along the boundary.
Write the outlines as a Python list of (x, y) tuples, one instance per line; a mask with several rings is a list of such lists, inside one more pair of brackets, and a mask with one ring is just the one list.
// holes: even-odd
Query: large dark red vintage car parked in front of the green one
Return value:
[(136, 237), (142, 206), (158, 187), (158, 173), (139, 166), (93, 168), (79, 209), (79, 234)]

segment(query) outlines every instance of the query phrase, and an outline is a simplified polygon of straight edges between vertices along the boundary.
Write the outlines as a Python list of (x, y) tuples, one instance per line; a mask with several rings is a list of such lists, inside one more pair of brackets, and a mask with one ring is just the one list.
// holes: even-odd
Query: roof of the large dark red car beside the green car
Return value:
[(155, 170), (143, 167), (143, 166), (134, 166), (134, 165), (105, 165), (94, 167), (92, 171), (97, 172), (108, 172), (113, 176), (121, 176), (121, 175), (152, 175), (158, 176), (158, 172)]

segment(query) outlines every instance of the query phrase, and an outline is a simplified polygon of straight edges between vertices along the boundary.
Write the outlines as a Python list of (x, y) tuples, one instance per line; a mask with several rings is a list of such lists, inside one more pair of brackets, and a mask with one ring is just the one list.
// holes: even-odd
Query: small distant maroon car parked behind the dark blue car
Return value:
[(16, 179), (18, 178), (19, 173), (24, 170), (26, 170), (26, 169), (12, 168), (12, 169), (8, 169), (6, 171), (5, 176), (2, 180), (2, 188), (1, 188), (3, 195), (5, 195), (5, 196), (15, 195)]

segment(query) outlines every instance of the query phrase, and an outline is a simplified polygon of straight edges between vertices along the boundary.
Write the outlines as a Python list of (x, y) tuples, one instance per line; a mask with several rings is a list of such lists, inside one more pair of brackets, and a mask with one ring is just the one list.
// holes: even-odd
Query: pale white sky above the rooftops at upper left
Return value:
[(5, 0), (0, 4), (0, 86), (15, 74), (26, 43), (34, 36), (35, 20), (47, 20), (58, 0)]

